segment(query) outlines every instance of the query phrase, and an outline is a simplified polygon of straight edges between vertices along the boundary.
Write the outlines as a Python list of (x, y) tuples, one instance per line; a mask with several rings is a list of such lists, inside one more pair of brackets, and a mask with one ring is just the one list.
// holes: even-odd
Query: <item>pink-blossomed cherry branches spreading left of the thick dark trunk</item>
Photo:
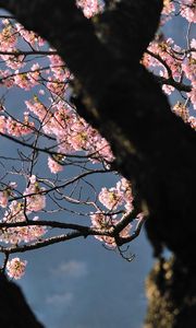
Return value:
[[(26, 261), (19, 257), (10, 260), (11, 254), (79, 236), (95, 235), (123, 256), (120, 246), (134, 239), (144, 222), (144, 215), (134, 210), (131, 184), (121, 178), (115, 187), (96, 191), (89, 178), (114, 173), (114, 157), (108, 142), (70, 103), (71, 72), (38, 35), (25, 31), (13, 17), (2, 19), (1, 58), (5, 68), (1, 81), (5, 92), (21, 87), (25, 97), (24, 114), (12, 113), (4, 94), (1, 101), (1, 136), (21, 147), (15, 156), (1, 155), (0, 239), (9, 244), (1, 246), (5, 256), (2, 271), (7, 268), (11, 278), (19, 279)], [(28, 93), (32, 90), (33, 95)], [(40, 163), (48, 168), (40, 172)], [(47, 220), (37, 215), (41, 212)], [(61, 212), (69, 216), (65, 222), (54, 219)], [(90, 218), (91, 226), (74, 223), (72, 214), (83, 221)], [(130, 234), (132, 221), (137, 221), (137, 226)], [(47, 232), (49, 237), (45, 237)]]

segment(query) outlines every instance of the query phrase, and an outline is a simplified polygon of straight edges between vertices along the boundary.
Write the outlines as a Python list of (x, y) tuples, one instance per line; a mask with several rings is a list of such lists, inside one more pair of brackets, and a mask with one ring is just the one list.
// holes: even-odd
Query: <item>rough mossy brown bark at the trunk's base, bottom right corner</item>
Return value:
[(146, 280), (149, 304), (144, 328), (196, 327), (195, 274), (175, 257), (156, 262)]

